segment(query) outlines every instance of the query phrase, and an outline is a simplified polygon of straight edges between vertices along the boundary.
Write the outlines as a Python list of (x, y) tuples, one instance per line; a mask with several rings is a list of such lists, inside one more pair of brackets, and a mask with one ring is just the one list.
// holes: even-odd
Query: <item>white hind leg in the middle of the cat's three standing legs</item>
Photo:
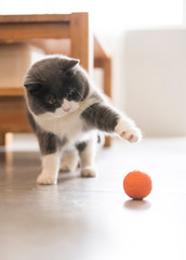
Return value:
[(63, 154), (61, 171), (75, 171), (79, 164), (79, 154), (75, 148)]

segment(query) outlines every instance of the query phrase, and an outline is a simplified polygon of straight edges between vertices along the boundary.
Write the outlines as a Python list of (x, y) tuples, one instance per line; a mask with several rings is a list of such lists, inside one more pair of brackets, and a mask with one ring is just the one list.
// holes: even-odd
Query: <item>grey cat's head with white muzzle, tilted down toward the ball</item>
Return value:
[(79, 61), (61, 55), (35, 63), (24, 86), (29, 109), (46, 119), (77, 110), (89, 93), (88, 79)]

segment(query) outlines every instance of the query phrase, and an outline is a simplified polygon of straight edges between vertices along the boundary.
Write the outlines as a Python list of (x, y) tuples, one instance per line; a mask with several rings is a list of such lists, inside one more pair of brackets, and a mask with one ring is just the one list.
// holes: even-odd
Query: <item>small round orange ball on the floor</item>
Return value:
[(141, 171), (129, 172), (123, 180), (127, 195), (133, 199), (143, 199), (151, 192), (151, 179)]

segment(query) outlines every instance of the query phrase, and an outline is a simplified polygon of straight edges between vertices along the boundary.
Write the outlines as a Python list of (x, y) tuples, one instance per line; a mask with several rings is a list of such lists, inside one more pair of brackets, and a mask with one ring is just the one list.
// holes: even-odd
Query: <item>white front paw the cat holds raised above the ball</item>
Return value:
[(122, 138), (128, 140), (131, 143), (140, 142), (142, 140), (141, 130), (133, 126), (130, 122), (127, 122), (122, 119), (119, 120), (118, 125), (115, 128), (115, 131)]

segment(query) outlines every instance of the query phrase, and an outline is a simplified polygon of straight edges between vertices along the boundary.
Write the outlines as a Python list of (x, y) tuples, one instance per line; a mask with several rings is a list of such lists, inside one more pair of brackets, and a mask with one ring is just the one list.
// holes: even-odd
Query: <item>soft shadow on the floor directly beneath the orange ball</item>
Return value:
[(128, 199), (123, 204), (123, 207), (130, 210), (147, 210), (148, 208), (150, 208), (150, 206), (151, 204), (146, 199)]

